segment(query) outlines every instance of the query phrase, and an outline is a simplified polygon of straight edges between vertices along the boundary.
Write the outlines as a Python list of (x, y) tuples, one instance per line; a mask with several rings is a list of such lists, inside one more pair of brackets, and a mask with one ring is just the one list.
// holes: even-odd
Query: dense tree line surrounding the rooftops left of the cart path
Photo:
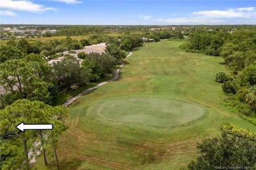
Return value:
[[(72, 50), (102, 42), (107, 43), (106, 54), (77, 54), (82, 61), (70, 55), (75, 53)], [(26, 39), (17, 43), (11, 40), (0, 48), (0, 83), (7, 92), (1, 95), (1, 108), (22, 98), (54, 105), (59, 91), (70, 90), (72, 85), (79, 87), (90, 81), (99, 81), (113, 74), (117, 62), (125, 58), (125, 51), (140, 47), (142, 43), (139, 35), (116, 38), (93, 35), (80, 41), (66, 37), (60, 41), (54, 39), (33, 44)], [(47, 63), (63, 56), (67, 50), (69, 54), (64, 55), (64, 60), (53, 63), (53, 66)]]

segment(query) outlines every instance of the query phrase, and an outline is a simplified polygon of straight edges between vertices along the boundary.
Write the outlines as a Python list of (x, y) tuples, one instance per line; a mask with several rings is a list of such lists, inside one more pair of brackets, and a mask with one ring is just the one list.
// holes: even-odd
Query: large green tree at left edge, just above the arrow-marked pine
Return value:
[(43, 60), (40, 55), (30, 54), (24, 60), (0, 64), (0, 83), (8, 96), (1, 98), (2, 103), (11, 104), (19, 98), (51, 102), (49, 89), (54, 88), (48, 77), (51, 68), (39, 60)]

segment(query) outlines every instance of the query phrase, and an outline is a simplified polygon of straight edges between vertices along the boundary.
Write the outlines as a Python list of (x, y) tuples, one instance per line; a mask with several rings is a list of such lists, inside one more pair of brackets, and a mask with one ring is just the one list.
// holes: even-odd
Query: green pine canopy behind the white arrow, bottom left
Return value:
[[(23, 133), (16, 129), (16, 125), (22, 121), (26, 124), (53, 123), (54, 131), (60, 132), (63, 130), (60, 129), (60, 125), (65, 127), (63, 120), (67, 115), (65, 106), (53, 108), (43, 102), (26, 99), (16, 100), (0, 110), (0, 138), (2, 139), (0, 147), (6, 147), (5, 152), (1, 152), (2, 167), (16, 169), (25, 166), (25, 169), (29, 168), (28, 151), (33, 145), (28, 146), (28, 140), (35, 142), (40, 138), (39, 131), (25, 130)], [(50, 134), (51, 131), (45, 131), (45, 133)], [(48, 140), (51, 138), (52, 136), (49, 135)], [(45, 144), (50, 143), (48, 140), (45, 140)], [(23, 151), (17, 149), (20, 146), (24, 148)]]

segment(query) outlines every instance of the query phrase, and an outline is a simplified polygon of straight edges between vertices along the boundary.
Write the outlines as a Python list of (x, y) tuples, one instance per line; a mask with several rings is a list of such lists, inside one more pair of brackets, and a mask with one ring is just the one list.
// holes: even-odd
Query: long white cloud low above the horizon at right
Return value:
[(225, 19), (247, 18), (251, 22), (256, 18), (255, 7), (227, 9), (226, 11), (195, 11), (182, 18), (158, 18), (156, 21), (168, 24), (223, 24), (227, 23)]

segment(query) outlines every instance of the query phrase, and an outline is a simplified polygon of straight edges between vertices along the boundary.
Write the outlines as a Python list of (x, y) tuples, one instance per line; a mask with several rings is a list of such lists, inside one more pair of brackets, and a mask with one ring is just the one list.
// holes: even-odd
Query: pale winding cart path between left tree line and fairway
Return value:
[[(130, 51), (129, 54), (126, 57), (131, 56), (131, 54), (133, 54), (133, 53)], [(62, 105), (68, 106), (68, 105), (72, 104), (72, 102), (77, 100), (77, 98), (79, 98), (79, 97), (81, 97), (81, 96), (83, 96), (83, 95), (93, 91), (94, 89), (97, 89), (98, 87), (100, 87), (100, 86), (102, 86), (102, 85), (104, 85), (106, 83), (110, 83), (111, 81), (114, 81), (115, 79), (117, 79), (119, 77), (119, 72), (120, 72), (121, 68), (123, 68), (123, 66), (125, 66), (125, 64), (123, 62), (121, 62), (121, 65), (119, 66), (119, 68), (117, 68), (117, 70), (116, 70), (116, 72), (114, 74), (114, 77), (112, 77), (112, 79), (109, 79), (108, 81), (104, 81), (102, 83), (99, 83), (98, 85), (95, 85), (94, 87), (86, 89), (85, 91), (82, 91), (78, 95), (75, 95), (72, 98), (66, 100), (66, 102), (64, 102)]]

